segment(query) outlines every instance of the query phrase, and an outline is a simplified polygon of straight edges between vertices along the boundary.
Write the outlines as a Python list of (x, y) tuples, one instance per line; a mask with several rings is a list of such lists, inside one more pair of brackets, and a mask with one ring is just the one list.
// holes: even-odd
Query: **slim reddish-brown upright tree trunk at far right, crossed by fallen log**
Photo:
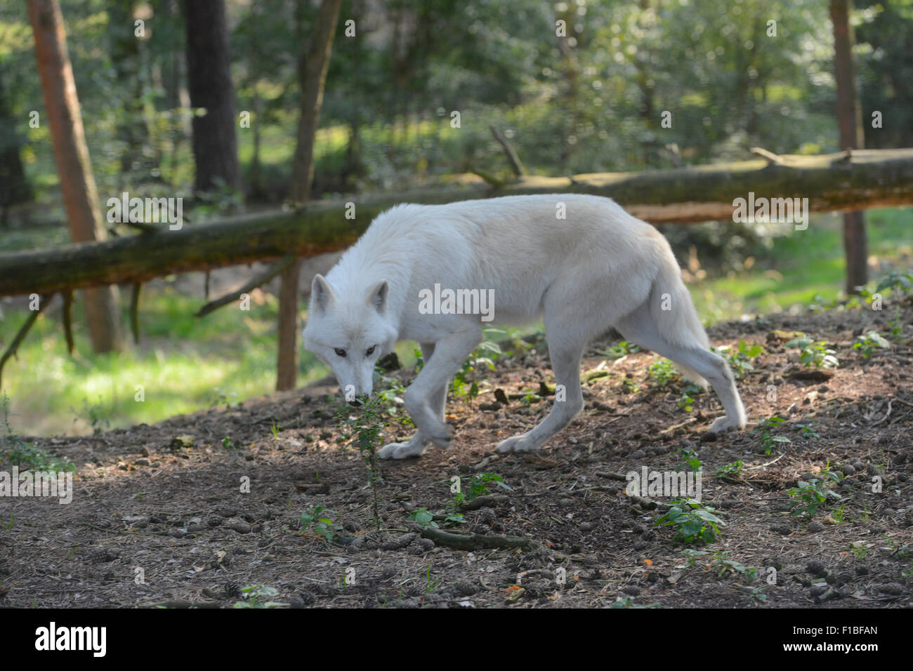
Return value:
[[(840, 124), (840, 148), (862, 149), (862, 110), (855, 89), (853, 67), (853, 26), (850, 24), (850, 0), (831, 0), (831, 22), (834, 24), (834, 78), (837, 81), (837, 121)], [(868, 281), (868, 244), (866, 219), (861, 211), (844, 215), (844, 250), (846, 256), (846, 293), (859, 293)]]

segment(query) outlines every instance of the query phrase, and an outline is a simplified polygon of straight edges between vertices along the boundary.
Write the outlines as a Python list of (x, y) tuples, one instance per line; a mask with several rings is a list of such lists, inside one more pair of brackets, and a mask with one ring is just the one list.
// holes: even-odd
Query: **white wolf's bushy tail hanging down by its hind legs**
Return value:
[[(698, 319), (698, 311), (691, 302), (681, 268), (665, 239), (662, 240), (659, 272), (650, 292), (650, 313), (659, 331), (659, 337), (669, 344), (687, 349), (710, 349), (707, 331)], [(697, 372), (678, 364), (683, 377), (702, 387), (707, 381)]]

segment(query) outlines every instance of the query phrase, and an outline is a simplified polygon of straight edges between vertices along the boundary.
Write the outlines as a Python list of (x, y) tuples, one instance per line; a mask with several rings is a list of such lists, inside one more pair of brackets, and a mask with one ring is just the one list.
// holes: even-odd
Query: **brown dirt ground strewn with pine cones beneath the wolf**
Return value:
[[(0, 498), (0, 605), (226, 608), (262, 585), (276, 593), (261, 602), (292, 607), (908, 607), (913, 309), (903, 311), (906, 342), (868, 358), (852, 347), (866, 330), (886, 333), (893, 316), (886, 305), (711, 328), (715, 346), (744, 339), (764, 348), (739, 383), (749, 428), (725, 435), (706, 433), (721, 412), (712, 393), (695, 395), (687, 412), (684, 383), (662, 387), (648, 375), (654, 355), (611, 359), (601, 351), (614, 341), (595, 343), (582, 367), (595, 371), (586, 407), (572, 425), (538, 456), (491, 456), (551, 406), (548, 397), (496, 401), (495, 390), (553, 382), (541, 341), (518, 349), (487, 372), (475, 401), (451, 397), (450, 449), (381, 463), (381, 532), (361, 457), (339, 449), (332, 386), (154, 426), (36, 438), (77, 465), (75, 492), (68, 505)], [(829, 343), (840, 362), (833, 374), (799, 365), (778, 332), (795, 330)], [(415, 372), (391, 374), (408, 383)], [(765, 433), (759, 421), (775, 414), (785, 423)], [(629, 471), (690, 471), (688, 449), (703, 467), (701, 503), (725, 525), (708, 545), (655, 524), (670, 498), (624, 493)], [(737, 461), (740, 472), (718, 473)], [(842, 473), (833, 483), (840, 498), (811, 519), (792, 516), (787, 490), (825, 469)], [(472, 509), (448, 503), (451, 477), (467, 488), (482, 472), (511, 490), (492, 487)], [(315, 506), (338, 527), (333, 541), (301, 529)], [(418, 508), (462, 514), (465, 524), (439, 526), (477, 534), (472, 547), (423, 538), (407, 519)], [(531, 542), (485, 547), (494, 536)]]

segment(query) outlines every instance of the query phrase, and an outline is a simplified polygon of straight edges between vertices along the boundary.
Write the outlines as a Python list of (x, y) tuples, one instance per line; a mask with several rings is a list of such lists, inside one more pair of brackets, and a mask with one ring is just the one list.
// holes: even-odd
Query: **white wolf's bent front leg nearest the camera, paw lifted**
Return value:
[(405, 409), (418, 433), (438, 447), (450, 445), (450, 432), (444, 424), (447, 381), (482, 341), (478, 324), (463, 327), (435, 343), (434, 356), (425, 360), (425, 367), (405, 393)]

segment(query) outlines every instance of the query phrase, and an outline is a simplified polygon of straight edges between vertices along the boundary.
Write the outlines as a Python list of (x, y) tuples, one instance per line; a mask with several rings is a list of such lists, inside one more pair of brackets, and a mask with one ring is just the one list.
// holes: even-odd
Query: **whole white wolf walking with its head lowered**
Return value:
[(492, 295), (493, 323), (544, 320), (565, 400), (556, 400), (540, 425), (501, 441), (498, 452), (538, 450), (581, 411), (583, 350), (610, 327), (713, 386), (726, 414), (710, 431), (745, 426), (732, 372), (708, 350), (676, 258), (652, 225), (593, 195), (401, 204), (374, 219), (326, 278), (314, 277), (304, 329), (305, 347), (331, 366), (350, 401), (371, 393), (374, 363), (396, 341), (420, 343), (425, 366), (404, 399), (418, 430), (408, 442), (383, 446), (383, 458), (449, 445), (448, 381), (490, 319), (455, 313), (453, 304), (429, 314), (426, 297), (440, 291), (436, 285)]

